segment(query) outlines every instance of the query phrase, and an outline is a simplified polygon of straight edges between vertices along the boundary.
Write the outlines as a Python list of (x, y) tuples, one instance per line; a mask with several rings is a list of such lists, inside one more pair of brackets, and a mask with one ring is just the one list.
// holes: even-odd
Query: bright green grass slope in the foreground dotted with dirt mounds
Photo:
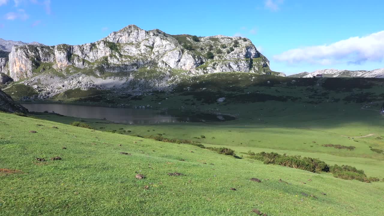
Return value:
[[(62, 160), (50, 160), (56, 156)], [(167, 175), (174, 172), (184, 175)], [(146, 178), (136, 179), (137, 173)], [(357, 216), (381, 215), (384, 204), (382, 182), (343, 180), (192, 145), (5, 113), (0, 113), (0, 182), (4, 216), (257, 215), (253, 209), (268, 216)]]

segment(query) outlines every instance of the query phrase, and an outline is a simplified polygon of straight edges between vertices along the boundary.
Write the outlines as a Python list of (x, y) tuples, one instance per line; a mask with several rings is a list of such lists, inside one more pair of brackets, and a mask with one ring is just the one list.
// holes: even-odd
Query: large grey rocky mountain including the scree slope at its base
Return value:
[(282, 75), (270, 70), (268, 59), (247, 38), (169, 35), (136, 25), (83, 45), (15, 45), (9, 60), (1, 62), (0, 72), (46, 97), (90, 87), (165, 90), (180, 77), (216, 72)]

